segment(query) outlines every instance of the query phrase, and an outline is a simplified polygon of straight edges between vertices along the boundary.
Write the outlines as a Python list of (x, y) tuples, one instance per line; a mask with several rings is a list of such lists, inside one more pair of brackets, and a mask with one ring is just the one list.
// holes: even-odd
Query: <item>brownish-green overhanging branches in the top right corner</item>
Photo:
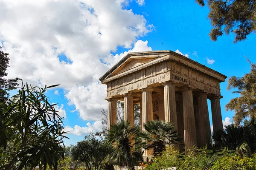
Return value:
[[(204, 6), (206, 0), (196, 0)], [(256, 31), (256, 0), (207, 0), (212, 23), (210, 37), (216, 41), (223, 32), (233, 32), (234, 42), (246, 40), (247, 35)]]

